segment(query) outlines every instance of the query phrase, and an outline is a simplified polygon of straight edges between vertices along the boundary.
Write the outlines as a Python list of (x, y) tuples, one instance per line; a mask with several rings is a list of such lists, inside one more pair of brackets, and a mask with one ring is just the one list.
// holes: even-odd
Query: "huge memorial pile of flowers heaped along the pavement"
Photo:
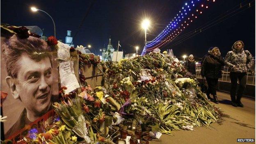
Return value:
[(100, 64), (104, 86), (84, 85), (69, 95), (62, 87), (62, 101), (53, 104), (59, 126), (37, 135), (35, 143), (114, 144), (127, 136), (147, 141), (157, 133), (213, 128), (210, 123), (221, 120), (196, 78), (166, 52)]

